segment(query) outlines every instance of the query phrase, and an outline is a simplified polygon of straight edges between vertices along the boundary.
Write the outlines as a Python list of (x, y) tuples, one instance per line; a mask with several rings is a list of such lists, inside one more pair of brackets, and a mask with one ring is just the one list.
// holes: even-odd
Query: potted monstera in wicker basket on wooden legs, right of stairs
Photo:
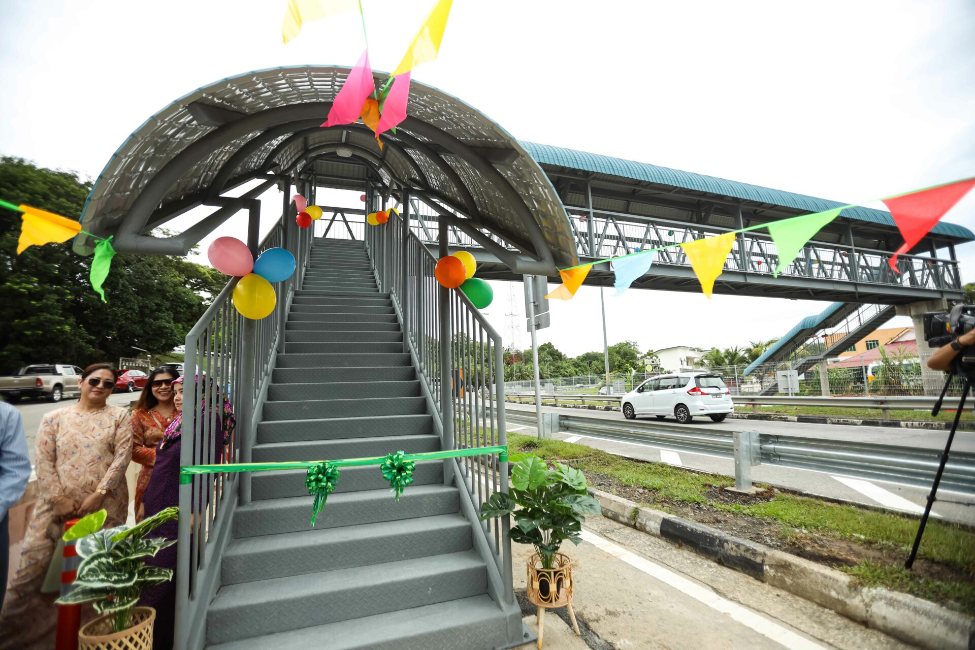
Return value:
[(511, 489), (490, 496), (481, 506), (481, 520), (513, 514), (511, 540), (535, 549), (527, 561), (528, 599), (539, 607), (568, 605), (572, 567), (559, 550), (565, 540), (582, 541), (582, 522), (586, 515), (602, 515), (600, 503), (589, 496), (585, 475), (574, 468), (549, 466), (532, 454), (513, 454), (509, 461)]

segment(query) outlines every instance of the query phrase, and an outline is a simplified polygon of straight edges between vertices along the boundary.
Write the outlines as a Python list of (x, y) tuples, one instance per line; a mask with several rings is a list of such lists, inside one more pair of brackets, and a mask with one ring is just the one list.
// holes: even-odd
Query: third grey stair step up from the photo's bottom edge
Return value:
[(220, 584), (322, 573), (470, 548), (471, 524), (459, 513), (248, 537), (232, 541), (223, 554)]

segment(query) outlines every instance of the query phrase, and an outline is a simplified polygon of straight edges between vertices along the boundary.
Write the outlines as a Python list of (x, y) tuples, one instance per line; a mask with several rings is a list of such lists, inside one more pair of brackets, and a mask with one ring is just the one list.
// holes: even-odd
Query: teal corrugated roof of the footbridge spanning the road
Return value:
[[(756, 201), (772, 206), (783, 206), (795, 208), (807, 212), (819, 212), (831, 210), (845, 206), (839, 201), (828, 199), (817, 199), (816, 197), (786, 192), (784, 190), (773, 190), (761, 185), (742, 183), (737, 180), (725, 180), (717, 176), (708, 176), (703, 173), (682, 172), (672, 170), (659, 165), (648, 163), (637, 163), (623, 158), (612, 158), (600, 154), (588, 153), (585, 151), (575, 151), (563, 147), (554, 147), (548, 144), (536, 144), (520, 140), (520, 143), (528, 154), (535, 159), (539, 165), (553, 165), (585, 172), (604, 173), (634, 180), (643, 180), (650, 183), (671, 185), (673, 187), (683, 187), (685, 189), (696, 190), (698, 192), (708, 192), (719, 194), (745, 201)], [(894, 219), (890, 212), (884, 210), (874, 210), (871, 208), (847, 208), (840, 212), (840, 216), (845, 216), (858, 221), (867, 221), (882, 226), (895, 228)], [(932, 232), (938, 235), (947, 235), (966, 241), (975, 240), (975, 233), (963, 226), (954, 223), (939, 222), (934, 226)]]

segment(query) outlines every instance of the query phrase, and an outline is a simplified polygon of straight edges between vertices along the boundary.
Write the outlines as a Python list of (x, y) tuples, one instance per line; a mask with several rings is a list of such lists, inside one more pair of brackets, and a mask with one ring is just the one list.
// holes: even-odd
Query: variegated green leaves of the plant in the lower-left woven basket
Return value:
[(123, 524), (102, 530), (105, 516), (104, 510), (83, 516), (64, 533), (65, 542), (78, 540), (75, 547), (82, 559), (74, 589), (57, 602), (91, 602), (99, 614), (112, 615), (112, 631), (118, 632), (132, 627), (132, 609), (143, 589), (173, 578), (172, 569), (145, 566), (143, 560), (176, 544), (176, 540), (145, 539), (145, 535), (175, 519), (178, 509), (167, 508), (135, 526)]

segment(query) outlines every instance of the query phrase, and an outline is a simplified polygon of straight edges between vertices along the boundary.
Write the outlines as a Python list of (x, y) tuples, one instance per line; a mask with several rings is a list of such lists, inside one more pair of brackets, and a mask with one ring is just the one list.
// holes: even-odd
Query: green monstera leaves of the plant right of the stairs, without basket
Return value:
[(481, 506), (481, 520), (514, 513), (511, 541), (532, 545), (542, 567), (551, 569), (565, 540), (582, 541), (586, 515), (603, 514), (600, 502), (589, 496), (585, 475), (574, 468), (549, 466), (531, 454), (514, 454), (510, 460), (511, 490), (492, 494)]

